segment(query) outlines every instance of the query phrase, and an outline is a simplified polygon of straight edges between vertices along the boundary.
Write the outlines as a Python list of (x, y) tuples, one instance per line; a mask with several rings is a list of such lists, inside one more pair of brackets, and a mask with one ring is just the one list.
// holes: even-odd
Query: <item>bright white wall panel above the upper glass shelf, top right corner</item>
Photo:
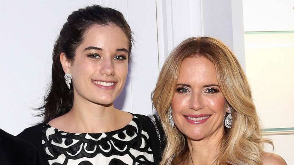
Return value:
[(293, 0), (244, 0), (245, 31), (294, 30)]

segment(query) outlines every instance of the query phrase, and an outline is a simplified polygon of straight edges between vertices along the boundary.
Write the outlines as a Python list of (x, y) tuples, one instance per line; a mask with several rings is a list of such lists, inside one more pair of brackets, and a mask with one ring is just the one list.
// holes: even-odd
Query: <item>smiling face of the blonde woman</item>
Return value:
[(223, 134), (227, 103), (212, 62), (201, 56), (182, 62), (171, 106), (175, 125), (187, 139)]

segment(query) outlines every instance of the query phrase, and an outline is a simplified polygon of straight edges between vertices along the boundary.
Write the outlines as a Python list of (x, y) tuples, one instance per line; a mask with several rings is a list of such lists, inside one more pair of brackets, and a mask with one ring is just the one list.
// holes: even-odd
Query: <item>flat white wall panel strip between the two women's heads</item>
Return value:
[(128, 1), (129, 24), (134, 32), (132, 54), (133, 113), (151, 114), (151, 92), (159, 74), (156, 27), (156, 2)]

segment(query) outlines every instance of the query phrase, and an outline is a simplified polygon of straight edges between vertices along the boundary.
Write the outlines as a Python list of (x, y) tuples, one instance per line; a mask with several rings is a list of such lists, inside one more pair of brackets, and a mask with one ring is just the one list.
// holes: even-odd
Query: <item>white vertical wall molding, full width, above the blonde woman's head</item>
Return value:
[(242, 0), (156, 0), (159, 68), (172, 49), (192, 36), (226, 43), (245, 69)]

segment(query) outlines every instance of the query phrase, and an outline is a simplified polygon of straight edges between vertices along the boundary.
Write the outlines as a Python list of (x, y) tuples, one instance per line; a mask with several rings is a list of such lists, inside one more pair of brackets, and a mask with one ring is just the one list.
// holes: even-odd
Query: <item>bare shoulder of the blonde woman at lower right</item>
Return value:
[(261, 159), (264, 165), (287, 165), (286, 161), (275, 153), (265, 152)]

